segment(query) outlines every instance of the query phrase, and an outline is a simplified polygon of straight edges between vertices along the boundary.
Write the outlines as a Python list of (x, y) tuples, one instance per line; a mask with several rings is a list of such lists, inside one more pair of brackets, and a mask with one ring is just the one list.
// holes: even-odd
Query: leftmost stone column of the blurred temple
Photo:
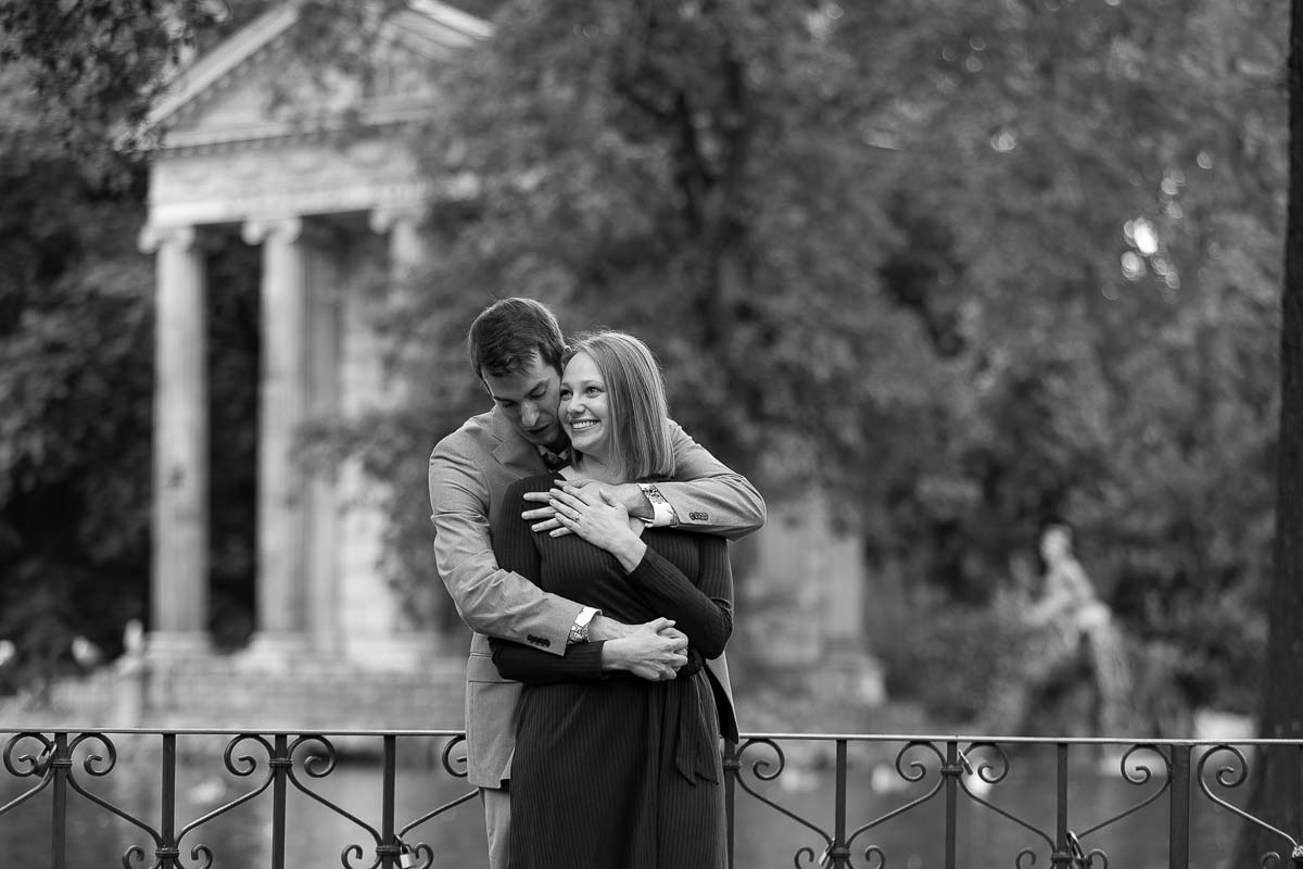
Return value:
[(208, 400), (203, 251), (194, 227), (146, 227), (156, 253), (154, 554), (149, 649), (208, 648)]

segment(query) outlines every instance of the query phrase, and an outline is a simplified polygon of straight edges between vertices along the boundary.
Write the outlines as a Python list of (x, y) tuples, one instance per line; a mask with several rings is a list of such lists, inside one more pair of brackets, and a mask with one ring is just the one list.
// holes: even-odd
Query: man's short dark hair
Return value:
[(500, 298), (480, 311), (466, 334), (466, 353), (476, 377), (508, 377), (524, 371), (538, 353), (560, 371), (566, 337), (556, 317), (533, 298)]

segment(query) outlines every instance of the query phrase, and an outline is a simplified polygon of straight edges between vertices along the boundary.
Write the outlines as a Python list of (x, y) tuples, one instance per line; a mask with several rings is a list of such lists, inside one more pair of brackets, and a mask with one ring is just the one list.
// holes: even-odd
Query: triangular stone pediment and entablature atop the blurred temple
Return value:
[[(367, 74), (297, 59), (300, 3), (198, 57), (150, 113), (154, 225), (420, 207), (433, 194), (400, 128), (429, 117), (434, 65), (491, 35), (435, 0), (378, 29)], [(301, 34), (298, 34), (301, 35)]]

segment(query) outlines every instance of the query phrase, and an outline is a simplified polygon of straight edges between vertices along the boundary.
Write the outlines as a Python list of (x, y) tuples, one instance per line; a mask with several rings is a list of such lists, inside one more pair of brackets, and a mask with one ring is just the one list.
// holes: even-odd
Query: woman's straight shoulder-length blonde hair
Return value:
[(576, 353), (588, 353), (606, 382), (610, 464), (633, 481), (672, 477), (665, 379), (648, 345), (627, 332), (602, 330), (579, 335), (566, 352), (566, 362)]

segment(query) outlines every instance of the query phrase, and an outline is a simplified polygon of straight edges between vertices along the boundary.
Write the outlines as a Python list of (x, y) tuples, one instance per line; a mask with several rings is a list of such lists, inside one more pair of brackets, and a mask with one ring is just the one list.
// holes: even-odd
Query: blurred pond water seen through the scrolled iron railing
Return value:
[[(1054, 758), (1052, 749), (1040, 748), (1018, 756), (1010, 775), (985, 793), (985, 799), (1024, 823), (1049, 835), (1054, 830)], [(771, 754), (769, 757), (773, 757)], [(745, 767), (760, 760), (758, 752), (744, 756)], [(1151, 758), (1152, 762), (1153, 758)], [(76, 767), (83, 786), (125, 812), (159, 826), (159, 774), (156, 761), (139, 758), (128, 763), (119, 758), (109, 775), (87, 776)], [(212, 809), (248, 792), (262, 780), (266, 763), (250, 778), (233, 776), (220, 760), (184, 761), (177, 776), (177, 827), (203, 817)], [(773, 782), (748, 782), (769, 799), (782, 804), (826, 833), (833, 831), (833, 773), (826, 769), (788, 766)], [(378, 763), (340, 763), (328, 775), (300, 778), (322, 797), (341, 809), (379, 826), (380, 780)], [(911, 800), (923, 796), (937, 782), (936, 766), (919, 783), (899, 779), (886, 761), (852, 760), (848, 778), (847, 830), (853, 831)], [(30, 779), (16, 779), (0, 771), (0, 806), (26, 788)], [(1132, 786), (1117, 771), (1101, 774), (1093, 766), (1071, 770), (1068, 812), (1078, 830), (1087, 830), (1143, 801), (1162, 786), (1161, 771), (1147, 786)], [(451, 778), (442, 767), (404, 763), (397, 779), (397, 825), (401, 827), (431, 809), (468, 792), (465, 782)], [(251, 869), (271, 865), (271, 791), (237, 806), (188, 833), (181, 844), (185, 865), (202, 866), (203, 859), (192, 857), (190, 849), (206, 846), (214, 855), (214, 869)], [(33, 800), (0, 816), (0, 865), (48, 866), (51, 853), (50, 788)], [(997, 812), (960, 795), (956, 842), (959, 865), (964, 869), (1009, 869), (1018, 864), (1023, 848), (1035, 851), (1035, 861), (1024, 857), (1022, 865), (1048, 866), (1049, 848), (1035, 833), (1001, 817)], [(877, 869), (880, 865), (903, 869), (943, 866), (945, 803), (937, 795), (928, 803), (894, 817), (853, 840), (855, 865)], [(1078, 821), (1080, 819), (1080, 821)], [(1191, 866), (1214, 869), (1230, 847), (1235, 830), (1230, 816), (1209, 804), (1201, 793), (1192, 797)], [(822, 851), (823, 839), (797, 821), (757, 801), (739, 790), (736, 813), (735, 862), (739, 868), (813, 866)], [(434, 866), (478, 869), (485, 866), (483, 827), (478, 800), (450, 809), (417, 827), (409, 836), (426, 842), (434, 849)], [(327, 809), (318, 801), (289, 790), (287, 812), (287, 866), (370, 866), (374, 839), (364, 829)], [(345, 862), (344, 851), (357, 846)], [(877, 853), (865, 856), (874, 846)], [(1106, 829), (1083, 838), (1087, 851), (1101, 848), (1110, 866), (1126, 869), (1161, 869), (1167, 865), (1167, 800), (1166, 795), (1140, 812), (1124, 817)], [(143, 857), (132, 866), (149, 866), (154, 859), (154, 840), (149, 833), (94, 805), (79, 795), (69, 795), (69, 869), (104, 869), (122, 865), (122, 856), (139, 847)], [(803, 847), (814, 856), (801, 855)], [(1096, 862), (1100, 866), (1100, 862)]]

